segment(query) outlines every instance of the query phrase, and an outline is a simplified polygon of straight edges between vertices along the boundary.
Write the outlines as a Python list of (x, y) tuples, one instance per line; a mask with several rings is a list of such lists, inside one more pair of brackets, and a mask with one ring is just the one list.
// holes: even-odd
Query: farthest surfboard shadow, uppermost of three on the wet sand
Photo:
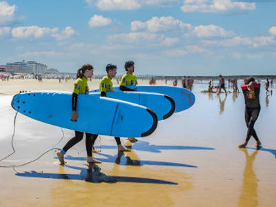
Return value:
[[(108, 145), (101, 145), (95, 146), (96, 148), (103, 148), (103, 149), (117, 149), (117, 146), (108, 146)], [(215, 148), (206, 148), (206, 147), (198, 147), (198, 146), (162, 146), (162, 145), (155, 145), (150, 144), (148, 141), (138, 141), (132, 146), (126, 146), (126, 148), (131, 148), (134, 150), (139, 151), (146, 151), (146, 152), (155, 152), (161, 153), (161, 150), (215, 150)]]

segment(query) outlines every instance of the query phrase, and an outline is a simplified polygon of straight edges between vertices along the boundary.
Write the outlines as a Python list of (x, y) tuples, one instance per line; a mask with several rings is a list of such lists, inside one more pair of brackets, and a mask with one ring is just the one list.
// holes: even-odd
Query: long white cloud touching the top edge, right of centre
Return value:
[(184, 0), (183, 12), (243, 12), (255, 10), (255, 3), (232, 0)]

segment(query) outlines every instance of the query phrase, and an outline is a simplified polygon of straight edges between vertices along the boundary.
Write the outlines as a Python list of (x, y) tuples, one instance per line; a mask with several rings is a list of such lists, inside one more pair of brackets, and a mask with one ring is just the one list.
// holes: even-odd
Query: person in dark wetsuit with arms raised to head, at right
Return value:
[(246, 133), (246, 141), (244, 144), (239, 145), (239, 148), (245, 148), (248, 144), (248, 141), (251, 136), (257, 142), (256, 148), (259, 149), (262, 146), (261, 141), (257, 137), (257, 133), (254, 129), (254, 124), (257, 121), (259, 116), (259, 111), (261, 110), (261, 106), (259, 104), (259, 91), (260, 91), (260, 84), (255, 83), (255, 79), (253, 77), (249, 77), (244, 81), (244, 85), (241, 86), (242, 92), (244, 94), (244, 101), (246, 104), (245, 108), (245, 121), (247, 126), (247, 133)]

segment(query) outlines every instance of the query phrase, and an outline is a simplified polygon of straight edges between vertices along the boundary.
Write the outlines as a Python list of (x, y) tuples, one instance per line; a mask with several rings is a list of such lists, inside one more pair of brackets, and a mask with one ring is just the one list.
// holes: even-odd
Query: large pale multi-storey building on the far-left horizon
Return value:
[(47, 66), (35, 61), (7, 63), (6, 68), (11, 72), (42, 74), (47, 72)]

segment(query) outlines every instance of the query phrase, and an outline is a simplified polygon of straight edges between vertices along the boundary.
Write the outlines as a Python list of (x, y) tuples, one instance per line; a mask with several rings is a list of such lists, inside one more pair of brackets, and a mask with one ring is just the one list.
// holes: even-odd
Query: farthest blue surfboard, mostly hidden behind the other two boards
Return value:
[[(157, 92), (167, 95), (175, 101), (175, 112), (180, 112), (192, 107), (195, 103), (195, 95), (190, 90), (185, 88), (172, 87), (172, 86), (126, 86), (131, 89), (137, 88), (137, 91), (141, 92)], [(113, 87), (114, 91), (121, 91), (119, 86)], [(90, 92), (97, 92), (97, 90), (91, 90)]]

